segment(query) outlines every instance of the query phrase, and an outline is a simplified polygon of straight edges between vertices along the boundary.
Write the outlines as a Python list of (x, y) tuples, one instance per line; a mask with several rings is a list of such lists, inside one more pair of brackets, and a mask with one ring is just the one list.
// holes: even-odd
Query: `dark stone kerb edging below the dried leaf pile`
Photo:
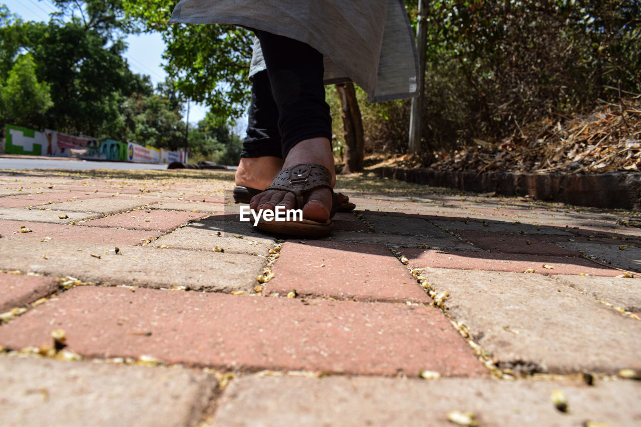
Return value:
[(641, 210), (641, 174), (619, 172), (590, 175), (533, 174), (513, 172), (457, 172), (435, 169), (379, 167), (383, 178), (394, 178), (431, 187), (503, 196), (532, 196), (537, 200), (595, 208)]

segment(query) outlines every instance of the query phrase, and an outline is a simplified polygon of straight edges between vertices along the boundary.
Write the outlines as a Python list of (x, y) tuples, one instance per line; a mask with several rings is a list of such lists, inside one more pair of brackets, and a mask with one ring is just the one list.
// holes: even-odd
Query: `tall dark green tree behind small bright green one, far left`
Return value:
[(120, 0), (53, 3), (60, 10), (48, 23), (24, 22), (0, 6), (0, 81), (28, 52), (56, 108), (26, 124), (98, 138), (122, 134), (122, 100), (144, 90), (122, 58), (123, 37), (137, 23), (126, 19)]

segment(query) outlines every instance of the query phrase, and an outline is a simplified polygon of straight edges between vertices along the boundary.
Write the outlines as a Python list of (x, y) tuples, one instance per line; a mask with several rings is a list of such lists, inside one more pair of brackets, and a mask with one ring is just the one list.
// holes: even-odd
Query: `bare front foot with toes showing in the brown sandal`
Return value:
[[(316, 163), (323, 165), (331, 173), (331, 185), (336, 184), (334, 173), (334, 156), (327, 138), (306, 139), (294, 146), (287, 155), (283, 169), (300, 165), (301, 163)], [(239, 167), (240, 169), (240, 167)], [(272, 177), (273, 178), (273, 177)], [(270, 181), (271, 183), (271, 181)], [(265, 185), (269, 187), (269, 183)], [(296, 208), (294, 194), (280, 190), (267, 190), (251, 199), (249, 206), (254, 210), (274, 210), (276, 205), (283, 205), (285, 209)], [(303, 218), (312, 221), (325, 222), (329, 219), (332, 199), (329, 188), (317, 188), (305, 195)]]

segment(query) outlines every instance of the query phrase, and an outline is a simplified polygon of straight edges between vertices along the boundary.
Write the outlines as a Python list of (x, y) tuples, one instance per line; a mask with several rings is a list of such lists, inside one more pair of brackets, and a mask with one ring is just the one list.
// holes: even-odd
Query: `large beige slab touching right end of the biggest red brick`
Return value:
[(641, 367), (641, 322), (538, 274), (429, 269), (454, 320), (501, 367), (617, 373)]

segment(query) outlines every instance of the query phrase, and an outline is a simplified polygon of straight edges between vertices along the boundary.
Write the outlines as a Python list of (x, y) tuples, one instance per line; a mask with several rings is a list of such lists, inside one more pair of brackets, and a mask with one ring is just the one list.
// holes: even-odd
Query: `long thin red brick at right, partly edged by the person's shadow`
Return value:
[[(619, 276), (620, 271), (601, 267), (585, 258), (569, 256), (524, 255), (513, 253), (487, 253), (433, 249), (401, 249), (410, 260), (411, 267), (432, 267), (457, 270), (486, 270), (524, 272), (535, 269), (539, 274), (589, 274), (590, 276)], [(554, 267), (545, 269), (543, 265)]]

